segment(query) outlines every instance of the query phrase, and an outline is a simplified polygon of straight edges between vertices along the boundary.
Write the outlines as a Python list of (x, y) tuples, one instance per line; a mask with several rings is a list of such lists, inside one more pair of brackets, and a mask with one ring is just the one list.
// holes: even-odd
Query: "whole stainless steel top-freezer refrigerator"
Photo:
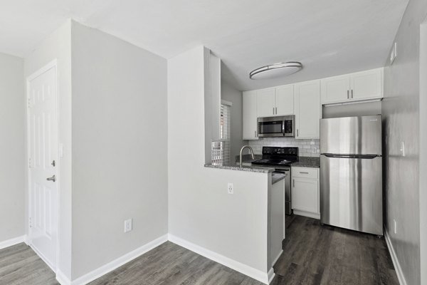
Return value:
[(320, 120), (323, 224), (383, 234), (381, 115)]

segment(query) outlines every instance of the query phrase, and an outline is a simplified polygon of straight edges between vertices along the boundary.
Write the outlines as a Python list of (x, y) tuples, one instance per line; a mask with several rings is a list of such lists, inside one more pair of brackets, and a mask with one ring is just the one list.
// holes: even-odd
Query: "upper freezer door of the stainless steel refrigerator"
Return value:
[(381, 155), (381, 115), (320, 120), (320, 153)]

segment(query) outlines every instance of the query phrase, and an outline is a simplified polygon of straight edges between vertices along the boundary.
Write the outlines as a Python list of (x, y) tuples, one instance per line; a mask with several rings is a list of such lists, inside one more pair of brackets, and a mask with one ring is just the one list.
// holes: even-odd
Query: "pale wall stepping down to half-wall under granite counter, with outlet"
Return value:
[(268, 174), (204, 167), (204, 87), (203, 46), (169, 59), (169, 234), (266, 273)]

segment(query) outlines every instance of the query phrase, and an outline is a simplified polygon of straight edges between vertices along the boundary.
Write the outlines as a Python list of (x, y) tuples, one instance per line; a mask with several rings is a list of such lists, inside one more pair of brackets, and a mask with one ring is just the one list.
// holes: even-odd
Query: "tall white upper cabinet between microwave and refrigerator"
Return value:
[(295, 138), (320, 138), (320, 81), (295, 84)]

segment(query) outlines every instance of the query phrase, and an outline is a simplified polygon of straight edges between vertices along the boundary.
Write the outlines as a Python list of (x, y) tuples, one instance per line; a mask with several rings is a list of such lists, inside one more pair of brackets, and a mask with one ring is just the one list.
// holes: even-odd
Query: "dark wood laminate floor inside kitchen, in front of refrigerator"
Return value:
[(287, 217), (275, 284), (399, 285), (384, 238)]

